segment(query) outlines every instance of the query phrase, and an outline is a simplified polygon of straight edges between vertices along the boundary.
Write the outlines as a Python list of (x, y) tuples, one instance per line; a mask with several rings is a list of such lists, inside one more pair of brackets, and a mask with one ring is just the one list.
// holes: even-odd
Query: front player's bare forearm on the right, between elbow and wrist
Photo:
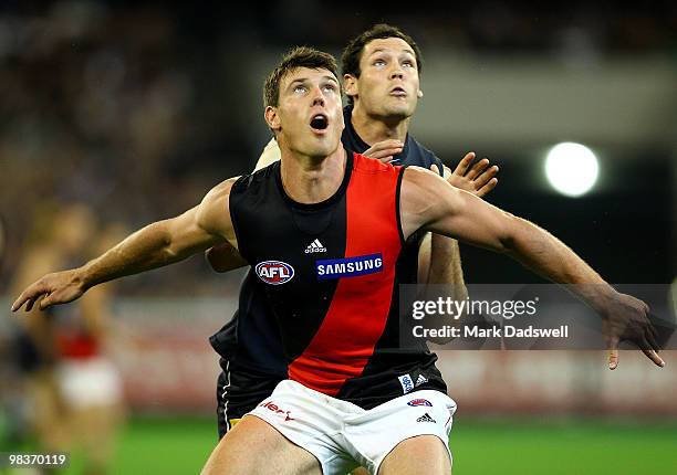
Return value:
[(597, 312), (616, 293), (570, 247), (527, 220), (513, 217), (502, 242), (508, 255), (550, 281), (572, 284), (567, 288)]

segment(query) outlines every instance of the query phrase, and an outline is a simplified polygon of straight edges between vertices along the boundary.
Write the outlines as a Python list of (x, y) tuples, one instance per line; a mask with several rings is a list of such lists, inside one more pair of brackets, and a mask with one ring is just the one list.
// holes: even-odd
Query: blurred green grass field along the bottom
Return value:
[[(196, 474), (215, 443), (208, 419), (135, 419), (122, 434), (113, 473)], [(668, 475), (677, 474), (677, 421), (457, 418), (451, 448), (456, 475)], [(75, 460), (64, 473), (77, 466)]]

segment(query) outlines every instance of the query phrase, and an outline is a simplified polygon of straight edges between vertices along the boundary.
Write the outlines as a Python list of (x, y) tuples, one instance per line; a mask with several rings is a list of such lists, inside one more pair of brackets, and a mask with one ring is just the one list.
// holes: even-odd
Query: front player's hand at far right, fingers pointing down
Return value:
[(602, 316), (602, 331), (608, 347), (608, 369), (618, 366), (618, 344), (631, 341), (656, 366), (664, 367), (658, 356), (656, 329), (648, 319), (648, 306), (631, 295), (617, 294)]

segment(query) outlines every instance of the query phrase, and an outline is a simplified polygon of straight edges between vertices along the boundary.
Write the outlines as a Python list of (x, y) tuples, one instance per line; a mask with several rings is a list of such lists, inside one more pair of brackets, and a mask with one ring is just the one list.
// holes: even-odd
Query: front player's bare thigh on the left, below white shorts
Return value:
[(221, 439), (202, 475), (321, 475), (320, 463), (270, 424), (248, 415)]

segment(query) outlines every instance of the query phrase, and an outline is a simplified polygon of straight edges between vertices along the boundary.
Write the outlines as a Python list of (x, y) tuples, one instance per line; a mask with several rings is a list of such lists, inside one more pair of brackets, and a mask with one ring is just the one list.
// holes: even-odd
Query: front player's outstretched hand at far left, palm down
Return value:
[(77, 276), (76, 270), (55, 272), (29, 285), (12, 304), (12, 312), (17, 312), (25, 304), (25, 312), (30, 312), (35, 303), (43, 297), (38, 307), (44, 310), (56, 304), (66, 304), (84, 294), (85, 288)]

